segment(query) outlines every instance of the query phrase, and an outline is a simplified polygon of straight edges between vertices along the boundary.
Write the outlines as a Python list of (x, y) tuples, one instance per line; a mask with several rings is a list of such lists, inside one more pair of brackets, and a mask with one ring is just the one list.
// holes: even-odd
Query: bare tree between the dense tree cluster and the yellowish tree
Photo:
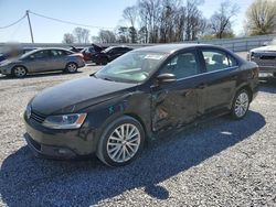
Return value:
[(237, 12), (237, 4), (232, 4), (230, 1), (221, 3), (219, 11), (215, 11), (210, 19), (210, 28), (217, 39), (233, 34), (231, 20)]

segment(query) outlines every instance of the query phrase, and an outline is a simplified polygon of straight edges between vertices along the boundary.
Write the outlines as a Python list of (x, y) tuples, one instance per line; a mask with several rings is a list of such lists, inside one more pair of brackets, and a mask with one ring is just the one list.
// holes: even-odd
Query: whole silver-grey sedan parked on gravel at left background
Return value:
[(75, 73), (85, 66), (83, 55), (64, 48), (39, 48), (1, 62), (0, 74), (24, 77), (29, 73), (64, 70)]

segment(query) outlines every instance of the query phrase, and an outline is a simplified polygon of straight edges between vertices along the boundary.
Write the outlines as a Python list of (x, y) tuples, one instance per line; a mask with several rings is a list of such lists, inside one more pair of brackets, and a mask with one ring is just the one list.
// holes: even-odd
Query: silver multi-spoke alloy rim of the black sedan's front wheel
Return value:
[(116, 128), (107, 141), (107, 154), (117, 163), (123, 163), (135, 156), (140, 145), (140, 132), (130, 123)]

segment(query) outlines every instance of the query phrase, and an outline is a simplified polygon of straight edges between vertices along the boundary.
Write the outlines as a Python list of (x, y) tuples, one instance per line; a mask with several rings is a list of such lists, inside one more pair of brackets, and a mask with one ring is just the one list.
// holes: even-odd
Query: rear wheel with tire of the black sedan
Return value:
[(250, 108), (250, 92), (246, 89), (241, 89), (236, 92), (236, 96), (232, 103), (231, 115), (232, 118), (238, 120), (243, 119)]

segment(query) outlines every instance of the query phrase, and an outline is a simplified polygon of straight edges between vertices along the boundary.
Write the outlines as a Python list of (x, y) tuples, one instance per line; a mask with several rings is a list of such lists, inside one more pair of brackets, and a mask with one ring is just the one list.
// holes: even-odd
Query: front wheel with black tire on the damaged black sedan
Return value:
[[(125, 135), (121, 138), (123, 134)], [(124, 166), (138, 156), (144, 142), (145, 131), (140, 122), (131, 117), (124, 116), (104, 129), (96, 154), (106, 165)]]

